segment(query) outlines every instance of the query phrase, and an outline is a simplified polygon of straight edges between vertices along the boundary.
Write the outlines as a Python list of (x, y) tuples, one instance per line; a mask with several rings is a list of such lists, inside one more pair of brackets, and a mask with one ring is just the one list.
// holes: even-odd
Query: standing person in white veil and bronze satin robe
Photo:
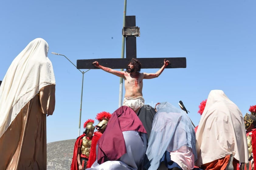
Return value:
[(0, 86), (0, 170), (46, 170), (46, 115), (55, 107), (48, 48), (42, 38), (30, 42)]

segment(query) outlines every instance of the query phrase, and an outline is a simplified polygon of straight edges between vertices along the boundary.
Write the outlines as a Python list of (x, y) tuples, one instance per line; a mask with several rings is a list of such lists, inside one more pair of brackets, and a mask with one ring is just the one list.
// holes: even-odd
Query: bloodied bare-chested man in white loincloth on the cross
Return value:
[(128, 63), (126, 71), (117, 71), (104, 67), (99, 65), (97, 61), (92, 64), (97, 68), (122, 77), (125, 80), (123, 105), (129, 106), (137, 113), (137, 111), (144, 105), (144, 98), (142, 97), (142, 80), (158, 77), (164, 71), (164, 68), (170, 64), (170, 61), (165, 61), (164, 59), (164, 65), (156, 73), (140, 73), (141, 63), (136, 58), (132, 58)]

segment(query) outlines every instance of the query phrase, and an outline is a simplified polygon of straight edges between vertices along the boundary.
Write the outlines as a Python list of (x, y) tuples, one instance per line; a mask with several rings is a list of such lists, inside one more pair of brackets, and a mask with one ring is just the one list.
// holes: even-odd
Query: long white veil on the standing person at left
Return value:
[(0, 86), (0, 137), (42, 87), (55, 84), (48, 49), (44, 39), (36, 38), (12, 61)]

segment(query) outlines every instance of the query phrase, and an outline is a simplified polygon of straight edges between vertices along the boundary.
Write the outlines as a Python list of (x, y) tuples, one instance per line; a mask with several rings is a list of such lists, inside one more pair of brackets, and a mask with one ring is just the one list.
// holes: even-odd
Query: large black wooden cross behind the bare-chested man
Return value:
[[(135, 16), (125, 16), (125, 27), (135, 27)], [(78, 69), (98, 69), (92, 62), (98, 61), (100, 65), (112, 69), (127, 68), (131, 58), (137, 58), (136, 37), (127, 36), (126, 41), (126, 58), (97, 58), (77, 60)], [(164, 59), (171, 62), (166, 68), (186, 68), (186, 58), (137, 58), (141, 62), (141, 68), (161, 68), (164, 65)]]

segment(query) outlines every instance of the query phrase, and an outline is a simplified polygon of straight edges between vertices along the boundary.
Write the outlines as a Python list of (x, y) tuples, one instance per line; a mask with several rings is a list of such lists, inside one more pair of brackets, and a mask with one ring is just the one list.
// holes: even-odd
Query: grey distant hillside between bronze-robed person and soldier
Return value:
[(75, 141), (47, 143), (47, 170), (70, 170)]

